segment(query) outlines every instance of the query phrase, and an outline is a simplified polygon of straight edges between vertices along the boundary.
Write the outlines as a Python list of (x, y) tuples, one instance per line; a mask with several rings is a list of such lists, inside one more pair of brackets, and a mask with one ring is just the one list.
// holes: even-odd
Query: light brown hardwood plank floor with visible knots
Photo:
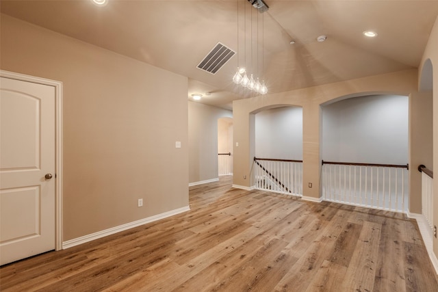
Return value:
[(191, 211), (0, 268), (1, 291), (438, 291), (414, 220), (231, 187)]

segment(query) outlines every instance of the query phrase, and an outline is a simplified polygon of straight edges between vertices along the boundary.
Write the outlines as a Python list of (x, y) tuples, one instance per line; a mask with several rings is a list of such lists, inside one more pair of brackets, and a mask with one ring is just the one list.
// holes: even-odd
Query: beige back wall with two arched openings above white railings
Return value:
[[(415, 98), (417, 95), (417, 70), (404, 70), (234, 101), (234, 142), (239, 143), (239, 146), (234, 146), (234, 185), (244, 188), (251, 187), (252, 152), (255, 146), (250, 137), (253, 132), (253, 122), (251, 121), (254, 113), (277, 105), (300, 106), (303, 111), (303, 195), (318, 200), (320, 198), (321, 168), (321, 105), (339, 98), (368, 94), (398, 94), (410, 96), (411, 99)], [(409, 157), (409, 161), (411, 161), (411, 157)], [(247, 179), (244, 179), (244, 176)], [(312, 183), (313, 187), (309, 188), (308, 183)], [(415, 203), (410, 207), (410, 210), (414, 213), (420, 211), (416, 203), (420, 200), (419, 194), (418, 190), (411, 190), (413, 196), (411, 202)]]

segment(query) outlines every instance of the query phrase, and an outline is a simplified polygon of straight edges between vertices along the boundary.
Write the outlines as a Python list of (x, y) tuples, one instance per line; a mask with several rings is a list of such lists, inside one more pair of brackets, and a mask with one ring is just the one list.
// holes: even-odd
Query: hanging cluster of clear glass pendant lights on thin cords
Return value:
[[(248, 0), (251, 5), (260, 13), (262, 14), (262, 21), (263, 21), (263, 12), (268, 11), (268, 5), (263, 0)], [(246, 7), (245, 7), (245, 13), (244, 13), (244, 55), (245, 55), (245, 62), (246, 62)], [(251, 13), (250, 17), (251, 21), (251, 70), (254, 70), (253, 63), (253, 13)], [(262, 29), (263, 29), (264, 23), (262, 23)], [(239, 0), (237, 0), (237, 62), (239, 61)], [(262, 40), (262, 42), (264, 39)], [(259, 17), (257, 14), (257, 71), (259, 69)], [(263, 53), (262, 52), (262, 59), (263, 59)], [(263, 61), (262, 61), (263, 63)], [(265, 81), (262, 80), (261, 83), (259, 81), (259, 77), (254, 77), (253, 73), (246, 72), (246, 69), (243, 67), (237, 65), (237, 70), (235, 72), (235, 75), (233, 76), (233, 82), (236, 84), (242, 85), (243, 88), (247, 88), (248, 90), (252, 90), (254, 92), (257, 92), (259, 94), (267, 94), (268, 88), (265, 85)], [(250, 76), (248, 78), (248, 75)]]

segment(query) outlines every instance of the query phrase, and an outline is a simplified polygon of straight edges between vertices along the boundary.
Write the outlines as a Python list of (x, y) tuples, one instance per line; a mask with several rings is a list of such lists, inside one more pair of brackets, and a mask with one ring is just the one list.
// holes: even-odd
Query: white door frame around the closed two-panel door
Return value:
[(0, 76), (55, 88), (55, 250), (62, 250), (62, 82), (5, 70)]

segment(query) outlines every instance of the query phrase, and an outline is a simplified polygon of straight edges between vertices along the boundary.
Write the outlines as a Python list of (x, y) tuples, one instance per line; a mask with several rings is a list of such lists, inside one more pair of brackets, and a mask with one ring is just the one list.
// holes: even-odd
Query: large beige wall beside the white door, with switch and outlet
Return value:
[(64, 241), (188, 206), (186, 77), (3, 14), (0, 49), (63, 82)]

